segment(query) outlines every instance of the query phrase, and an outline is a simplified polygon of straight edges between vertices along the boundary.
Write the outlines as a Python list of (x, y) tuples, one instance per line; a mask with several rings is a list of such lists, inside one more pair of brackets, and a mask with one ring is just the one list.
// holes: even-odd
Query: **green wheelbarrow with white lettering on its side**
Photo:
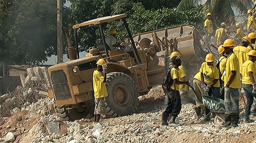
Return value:
[(198, 95), (191, 85), (188, 85), (191, 87), (192, 91), (195, 93), (196, 98), (200, 103), (202, 103), (206, 108), (208, 108), (210, 111), (214, 112), (216, 116), (214, 117), (214, 123), (216, 125), (223, 125), (225, 123), (225, 103), (222, 99), (219, 99), (217, 97), (210, 97), (207, 95), (207, 92), (205, 92), (205, 95), (202, 95), (202, 99), (198, 98)]

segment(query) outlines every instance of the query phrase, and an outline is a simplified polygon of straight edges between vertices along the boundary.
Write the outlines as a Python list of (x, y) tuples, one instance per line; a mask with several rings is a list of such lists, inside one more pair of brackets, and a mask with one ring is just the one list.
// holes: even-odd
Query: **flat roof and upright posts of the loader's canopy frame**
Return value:
[(125, 24), (125, 28), (128, 32), (129, 39), (131, 40), (131, 44), (132, 44), (131, 46), (133, 47), (133, 51), (135, 52), (135, 60), (136, 60), (137, 63), (142, 63), (142, 60), (139, 57), (139, 52), (138, 52), (138, 50), (135, 46), (135, 42), (133, 40), (133, 37), (131, 35), (131, 31), (128, 27), (128, 24), (127, 24), (125, 18), (126, 18), (126, 14), (118, 14), (118, 15), (114, 15), (114, 16), (100, 17), (100, 18), (96, 18), (96, 19), (93, 19), (93, 20), (88, 20), (88, 21), (82, 22), (80, 24), (73, 25), (72, 27), (74, 29), (74, 34), (75, 34), (75, 48), (77, 49), (77, 57), (79, 58), (79, 50), (78, 50), (78, 43), (77, 43), (77, 29), (79, 29), (83, 26), (91, 25), (91, 24), (97, 25), (99, 27), (99, 30), (100, 30), (100, 36), (102, 38), (102, 43), (104, 45), (104, 50), (105, 50), (105, 53), (106, 53), (106, 57), (109, 57), (108, 50), (106, 49), (106, 47), (108, 47), (108, 45), (106, 44), (106, 41), (105, 41), (105, 36), (104, 36), (104, 33), (103, 33), (102, 24), (106, 23), (106, 22), (109, 22), (109, 21), (122, 19), (124, 24)]

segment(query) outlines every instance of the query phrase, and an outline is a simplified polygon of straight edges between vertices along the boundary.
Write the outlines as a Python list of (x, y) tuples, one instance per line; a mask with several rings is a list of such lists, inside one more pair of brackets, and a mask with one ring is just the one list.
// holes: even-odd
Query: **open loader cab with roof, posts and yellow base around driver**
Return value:
[[(141, 64), (142, 60), (139, 55), (139, 52), (135, 46), (135, 42), (133, 40), (133, 37), (131, 35), (131, 32), (129, 30), (128, 24), (126, 22), (126, 14), (119, 14), (119, 15), (114, 15), (114, 16), (105, 16), (101, 18), (96, 18), (94, 20), (89, 20), (82, 22), (80, 24), (75, 24), (73, 25), (74, 33), (75, 33), (75, 48), (78, 49), (78, 40), (77, 40), (77, 30), (83, 26), (89, 26), (89, 25), (94, 25), (99, 28), (100, 31), (100, 38), (101, 38), (101, 43), (97, 45), (97, 48), (91, 48), (89, 49), (89, 55), (100, 55), (103, 58), (106, 58), (108, 62), (119, 62), (120, 64), (123, 64), (124, 66), (133, 66), (135, 64)], [(103, 30), (103, 24), (109, 21), (113, 20), (122, 20), (123, 24), (127, 30), (128, 33), (128, 39), (126, 42), (123, 42), (123, 45), (130, 44), (131, 48), (129, 50), (126, 50), (124, 52), (120, 51), (114, 51), (110, 50), (109, 46), (106, 44), (105, 38), (108, 35), (104, 35), (104, 30)], [(77, 56), (79, 56), (77, 54)]]

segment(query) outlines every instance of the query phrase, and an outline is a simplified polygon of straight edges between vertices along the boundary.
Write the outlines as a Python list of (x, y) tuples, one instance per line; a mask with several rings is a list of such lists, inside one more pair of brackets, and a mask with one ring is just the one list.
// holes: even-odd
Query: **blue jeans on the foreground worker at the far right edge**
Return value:
[[(251, 108), (253, 103), (253, 98), (256, 98), (256, 94), (252, 93), (252, 85), (246, 85), (242, 84), (242, 87), (244, 88), (244, 92), (246, 94), (247, 103), (246, 103), (246, 117), (249, 117), (251, 115)], [(253, 113), (256, 113), (256, 106), (254, 106)]]

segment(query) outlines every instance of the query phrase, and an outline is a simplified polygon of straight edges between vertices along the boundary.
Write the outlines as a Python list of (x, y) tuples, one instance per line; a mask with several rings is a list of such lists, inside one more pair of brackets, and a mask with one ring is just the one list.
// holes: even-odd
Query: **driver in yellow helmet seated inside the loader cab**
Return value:
[(114, 29), (109, 30), (109, 35), (105, 38), (106, 44), (108, 44), (110, 50), (115, 50), (119, 52), (123, 52), (122, 50), (118, 49), (120, 48), (125, 48), (125, 46), (122, 46), (120, 44), (117, 44), (117, 31)]

